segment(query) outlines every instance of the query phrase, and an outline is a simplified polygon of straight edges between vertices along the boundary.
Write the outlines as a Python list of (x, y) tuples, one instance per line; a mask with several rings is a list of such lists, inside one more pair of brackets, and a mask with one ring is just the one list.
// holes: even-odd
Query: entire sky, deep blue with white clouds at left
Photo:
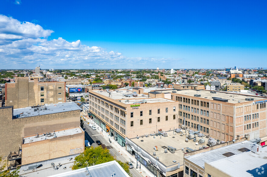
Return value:
[(266, 68), (266, 5), (0, 1), (2, 69)]

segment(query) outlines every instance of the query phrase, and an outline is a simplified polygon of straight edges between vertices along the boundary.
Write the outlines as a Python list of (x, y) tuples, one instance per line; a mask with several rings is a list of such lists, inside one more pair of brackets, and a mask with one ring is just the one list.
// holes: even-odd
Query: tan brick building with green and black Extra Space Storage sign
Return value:
[(176, 101), (164, 97), (148, 98), (139, 94), (139, 90), (137, 93), (89, 90), (89, 116), (121, 146), (125, 146), (125, 137), (177, 128), (177, 114)]

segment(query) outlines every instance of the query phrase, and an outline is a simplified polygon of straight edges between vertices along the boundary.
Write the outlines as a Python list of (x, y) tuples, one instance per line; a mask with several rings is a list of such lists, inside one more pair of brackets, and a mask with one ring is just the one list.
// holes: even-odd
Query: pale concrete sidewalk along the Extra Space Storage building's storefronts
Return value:
[[(89, 117), (85, 117), (85, 121), (87, 123), (94, 123), (93, 120), (91, 120)], [(108, 138), (110, 138), (111, 140), (111, 145), (115, 151), (119, 152), (119, 154), (122, 155), (122, 157), (125, 159), (125, 161), (129, 161), (130, 160), (133, 160), (134, 162), (132, 163), (133, 166), (134, 166), (134, 169), (139, 173), (141, 174), (143, 177), (154, 177), (155, 175), (152, 174), (143, 164), (141, 164), (141, 172), (140, 172), (140, 169), (139, 169), (139, 165), (140, 163), (138, 162), (138, 169), (136, 169), (136, 159), (135, 159), (135, 156), (132, 156), (131, 154), (129, 154), (129, 152), (127, 152), (125, 150), (125, 147), (122, 147), (121, 145), (118, 144), (118, 142), (116, 142), (113, 137), (110, 137), (108, 136), (109, 133), (108, 132), (104, 132), (102, 133), (102, 128), (100, 126), (98, 126), (97, 124), (95, 124), (95, 127), (96, 128), (99, 128), (99, 130), (96, 130), (98, 131), (99, 133), (101, 133), (103, 135), (103, 137), (107, 140)]]

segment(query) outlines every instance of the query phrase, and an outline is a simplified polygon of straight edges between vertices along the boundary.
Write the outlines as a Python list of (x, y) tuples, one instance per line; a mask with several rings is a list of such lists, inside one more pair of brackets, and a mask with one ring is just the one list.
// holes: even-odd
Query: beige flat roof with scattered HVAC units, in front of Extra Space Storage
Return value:
[[(175, 164), (173, 160), (176, 160), (176, 163), (180, 163), (181, 165), (184, 163), (184, 153), (186, 153), (186, 148), (190, 148), (193, 150), (198, 150), (199, 147), (207, 146), (208, 138), (204, 138), (204, 143), (196, 145), (198, 140), (201, 137), (198, 137), (196, 134), (197, 141), (193, 141), (193, 139), (188, 139), (188, 142), (185, 141), (186, 135), (185, 130), (182, 130), (183, 133), (176, 133), (174, 135), (173, 131), (166, 132), (168, 134), (167, 137), (163, 136), (148, 136), (148, 137), (140, 137), (132, 138), (131, 141), (133, 141), (135, 144), (137, 144), (139, 147), (141, 147), (143, 150), (145, 150), (148, 154), (153, 156), (153, 153), (155, 152), (156, 155), (155, 158), (158, 157), (159, 161), (163, 163), (165, 166), (170, 166)], [(181, 136), (182, 134), (182, 136)], [(155, 136), (155, 138), (153, 138)], [(143, 140), (143, 141), (141, 141)], [(158, 151), (154, 150), (154, 146), (158, 147)], [(168, 148), (168, 146), (176, 148), (175, 153), (171, 153), (169, 150), (167, 150), (167, 153), (164, 153), (164, 150)], [(207, 146), (208, 147), (208, 146)], [(189, 149), (189, 151), (190, 151)]]

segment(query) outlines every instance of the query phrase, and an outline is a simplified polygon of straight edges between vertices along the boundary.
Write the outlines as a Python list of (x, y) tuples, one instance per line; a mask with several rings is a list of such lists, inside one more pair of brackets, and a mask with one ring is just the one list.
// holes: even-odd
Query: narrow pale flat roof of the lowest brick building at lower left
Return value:
[(69, 135), (75, 135), (75, 134), (79, 134), (82, 133), (83, 130), (80, 127), (75, 127), (75, 128), (71, 128), (71, 129), (64, 129), (64, 130), (60, 130), (60, 131), (55, 131), (55, 132), (47, 132), (44, 134), (39, 134), (37, 135), (32, 135), (32, 136), (27, 136), (23, 138), (23, 144), (27, 144), (27, 143), (33, 143), (33, 142), (37, 142), (37, 141), (44, 141), (44, 140), (48, 140), (48, 139), (53, 139), (53, 138), (60, 138), (60, 137), (64, 137), (64, 136), (69, 136)]

